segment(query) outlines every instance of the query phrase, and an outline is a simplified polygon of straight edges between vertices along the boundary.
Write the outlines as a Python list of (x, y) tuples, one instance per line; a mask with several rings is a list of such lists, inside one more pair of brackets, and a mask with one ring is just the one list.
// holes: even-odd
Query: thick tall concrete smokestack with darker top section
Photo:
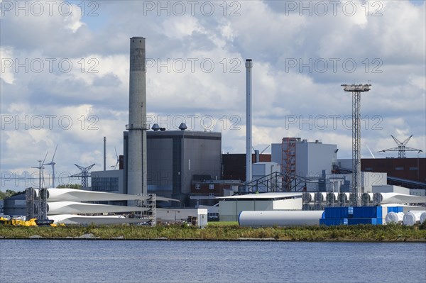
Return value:
[[(128, 194), (147, 194), (145, 38), (130, 39)], [(129, 202), (129, 204), (134, 204)]]

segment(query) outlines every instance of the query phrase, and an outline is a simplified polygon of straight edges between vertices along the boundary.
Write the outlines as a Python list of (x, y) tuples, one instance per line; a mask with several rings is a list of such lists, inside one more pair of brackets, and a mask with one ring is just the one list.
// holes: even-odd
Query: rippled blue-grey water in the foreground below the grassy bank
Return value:
[(0, 240), (0, 282), (426, 282), (426, 245)]

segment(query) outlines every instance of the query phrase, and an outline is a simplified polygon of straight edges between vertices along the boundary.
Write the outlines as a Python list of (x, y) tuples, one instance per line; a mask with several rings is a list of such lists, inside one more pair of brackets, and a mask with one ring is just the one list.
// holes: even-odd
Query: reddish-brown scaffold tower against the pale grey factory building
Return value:
[(283, 138), (281, 142), (281, 172), (285, 179), (285, 190), (291, 191), (291, 184), (296, 176), (296, 143), (300, 138)]

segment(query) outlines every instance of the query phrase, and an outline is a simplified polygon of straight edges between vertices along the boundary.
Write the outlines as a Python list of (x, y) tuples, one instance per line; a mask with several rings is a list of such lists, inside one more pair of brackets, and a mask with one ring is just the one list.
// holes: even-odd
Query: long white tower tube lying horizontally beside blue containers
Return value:
[(316, 226), (324, 211), (241, 211), (240, 226)]

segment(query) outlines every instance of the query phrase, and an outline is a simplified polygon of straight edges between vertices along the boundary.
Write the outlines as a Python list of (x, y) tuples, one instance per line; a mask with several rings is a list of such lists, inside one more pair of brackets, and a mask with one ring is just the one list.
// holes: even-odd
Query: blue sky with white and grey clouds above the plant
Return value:
[[(410, 135), (426, 151), (425, 1), (0, 1), (1, 190), (56, 184), (123, 154), (129, 38), (146, 38), (147, 121), (222, 132), (246, 148), (253, 60), (253, 148), (283, 137), (337, 144), (351, 158), (351, 93), (361, 94), (361, 157)], [(370, 149), (370, 150), (368, 150)], [(265, 152), (270, 152), (268, 148)], [(45, 165), (50, 184), (51, 167)], [(28, 177), (30, 179), (28, 179)]]

